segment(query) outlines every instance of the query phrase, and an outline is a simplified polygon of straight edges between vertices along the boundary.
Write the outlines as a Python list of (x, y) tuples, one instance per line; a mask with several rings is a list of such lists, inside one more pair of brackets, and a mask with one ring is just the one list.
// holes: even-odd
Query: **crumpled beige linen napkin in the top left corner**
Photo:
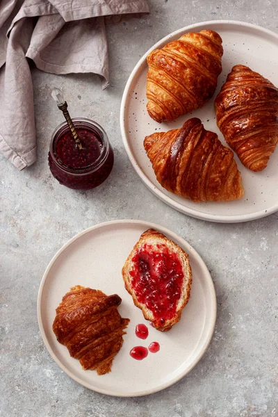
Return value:
[(94, 72), (106, 88), (106, 24), (148, 12), (147, 0), (0, 1), (0, 151), (19, 170), (36, 160), (26, 58), (53, 74)]

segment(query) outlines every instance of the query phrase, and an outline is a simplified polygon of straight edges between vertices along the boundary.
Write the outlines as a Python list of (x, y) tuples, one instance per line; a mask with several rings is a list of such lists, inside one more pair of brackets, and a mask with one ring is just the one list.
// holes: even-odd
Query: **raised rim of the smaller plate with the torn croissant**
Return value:
[[(161, 231), (164, 234), (168, 234), (168, 235), (172, 236), (172, 238), (174, 238), (174, 239), (177, 238), (178, 241), (182, 240), (184, 243), (186, 243), (186, 245), (188, 245), (190, 247), (190, 251), (193, 252), (193, 254), (195, 256), (195, 259), (197, 259), (198, 264), (202, 265), (202, 268), (204, 268), (204, 270), (206, 272), (206, 282), (208, 284), (208, 290), (209, 290), (209, 294), (210, 294), (210, 297), (211, 297), (211, 327), (210, 327), (209, 332), (208, 332), (206, 343), (204, 344), (204, 346), (202, 347), (202, 350), (199, 352), (199, 354), (195, 358), (195, 361), (193, 361), (193, 363), (191, 363), (190, 367), (188, 369), (186, 369), (186, 372), (181, 373), (181, 375), (178, 375), (178, 377), (172, 379), (171, 382), (169, 382), (169, 383), (166, 382), (165, 384), (159, 386), (157, 389), (146, 389), (146, 390), (142, 390), (138, 393), (124, 394), (124, 393), (117, 392), (117, 391), (111, 392), (111, 391), (106, 390), (106, 389), (99, 389), (98, 387), (95, 387), (95, 386), (94, 386), (94, 388), (92, 388), (92, 385), (88, 384), (87, 382), (83, 381), (82, 379), (80, 379), (79, 377), (77, 377), (76, 375), (71, 373), (70, 370), (68, 370), (67, 367), (64, 366), (62, 362), (60, 362), (58, 357), (56, 357), (56, 354), (52, 350), (51, 345), (50, 345), (50, 343), (47, 339), (47, 336), (44, 332), (44, 326), (43, 326), (43, 323), (42, 323), (42, 314), (41, 314), (42, 291), (44, 289), (44, 284), (47, 280), (49, 270), (51, 270), (51, 268), (54, 265), (56, 259), (58, 259), (60, 254), (62, 254), (68, 246), (70, 246), (72, 243), (74, 243), (75, 240), (77, 240), (78, 238), (80, 238), (84, 234), (90, 233), (90, 231), (92, 231), (92, 230), (101, 229), (101, 227), (111, 226), (113, 224), (138, 224), (138, 225), (142, 225), (142, 226), (146, 226), (146, 227), (153, 227), (154, 229), (157, 229), (158, 231)], [(91, 391), (95, 391), (97, 393), (101, 393), (101, 394), (105, 394), (105, 395), (111, 395), (113, 397), (122, 397), (122, 398), (140, 397), (140, 396), (143, 396), (143, 395), (150, 395), (152, 393), (162, 391), (162, 390), (168, 388), (169, 386), (172, 386), (173, 384), (176, 384), (183, 377), (185, 377), (188, 373), (190, 373), (190, 370), (192, 370), (197, 365), (197, 363), (200, 361), (200, 359), (202, 359), (204, 353), (206, 352), (206, 350), (208, 348), (208, 345), (211, 343), (211, 338), (213, 337), (213, 333), (214, 333), (214, 330), (215, 330), (215, 322), (216, 322), (216, 318), (217, 318), (217, 297), (216, 297), (216, 293), (215, 293), (215, 287), (214, 287), (214, 284), (213, 284), (213, 279), (211, 277), (211, 273), (208, 270), (208, 267), (206, 266), (206, 263), (202, 259), (202, 256), (199, 255), (199, 253), (194, 249), (194, 247), (192, 247), (190, 245), (190, 243), (188, 243), (187, 240), (183, 239), (181, 236), (176, 234), (174, 231), (172, 231), (170, 229), (167, 229), (167, 227), (163, 227), (160, 224), (156, 224), (156, 223), (153, 223), (153, 222), (147, 222), (145, 220), (131, 220), (131, 219), (111, 220), (111, 221), (108, 221), (108, 222), (102, 222), (102, 223), (99, 223), (99, 224), (95, 224), (94, 226), (88, 227), (87, 229), (79, 232), (78, 234), (73, 236), (70, 240), (67, 240), (67, 242), (62, 247), (60, 247), (60, 249), (56, 252), (56, 254), (54, 254), (51, 261), (47, 265), (47, 268), (44, 271), (44, 275), (42, 276), (42, 280), (40, 282), (40, 287), (39, 287), (39, 291), (38, 291), (38, 298), (37, 298), (37, 318), (38, 318), (38, 326), (39, 326), (39, 329), (40, 329), (40, 336), (42, 337), (42, 341), (44, 342), (44, 346), (47, 348), (47, 352), (50, 354), (51, 358), (54, 359), (54, 361), (57, 363), (57, 365), (60, 367), (60, 369), (62, 369), (63, 372), (65, 372), (70, 378), (74, 379), (75, 382), (78, 382), (79, 384), (81, 384), (82, 386), (85, 386), (85, 388), (88, 388)]]

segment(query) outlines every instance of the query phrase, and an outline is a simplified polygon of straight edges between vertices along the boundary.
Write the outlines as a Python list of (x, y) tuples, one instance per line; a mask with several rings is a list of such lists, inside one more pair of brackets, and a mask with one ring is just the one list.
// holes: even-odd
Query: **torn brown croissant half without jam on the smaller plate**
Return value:
[(70, 356), (79, 359), (83, 369), (96, 370), (98, 375), (111, 371), (113, 359), (122, 347), (129, 323), (117, 306), (119, 295), (75, 286), (65, 294), (56, 309), (53, 331)]

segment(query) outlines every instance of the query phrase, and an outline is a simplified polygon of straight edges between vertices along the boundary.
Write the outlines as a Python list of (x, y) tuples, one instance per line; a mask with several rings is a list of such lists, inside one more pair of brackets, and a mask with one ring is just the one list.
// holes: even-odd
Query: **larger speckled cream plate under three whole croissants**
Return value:
[[(158, 124), (149, 117), (146, 104), (147, 56), (156, 48), (176, 40), (183, 33), (211, 29), (220, 34), (223, 40), (224, 55), (222, 57), (222, 73), (218, 79), (218, 88), (213, 99), (187, 115), (179, 117), (175, 122)], [(182, 213), (195, 218), (213, 222), (245, 222), (262, 218), (278, 211), (278, 149), (272, 156), (268, 167), (263, 172), (247, 170), (236, 156), (238, 169), (243, 176), (245, 195), (234, 202), (202, 202), (195, 203), (183, 199), (165, 190), (156, 181), (152, 165), (145, 153), (143, 140), (151, 133), (179, 129), (190, 117), (199, 117), (205, 129), (218, 133), (222, 143), (227, 146), (222, 133), (215, 122), (214, 98), (236, 64), (249, 66), (259, 72), (273, 84), (278, 85), (278, 35), (267, 29), (243, 22), (214, 21), (193, 24), (175, 31), (154, 45), (140, 59), (126, 83), (120, 112), (120, 124), (124, 147), (133, 167), (140, 178), (152, 192)]]

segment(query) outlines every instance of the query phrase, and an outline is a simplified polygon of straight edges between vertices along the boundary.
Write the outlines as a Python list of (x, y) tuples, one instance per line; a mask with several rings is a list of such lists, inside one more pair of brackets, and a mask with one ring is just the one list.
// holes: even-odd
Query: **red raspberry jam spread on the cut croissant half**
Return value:
[(174, 317), (181, 297), (183, 270), (177, 254), (165, 245), (145, 245), (132, 258), (131, 286), (159, 327)]

